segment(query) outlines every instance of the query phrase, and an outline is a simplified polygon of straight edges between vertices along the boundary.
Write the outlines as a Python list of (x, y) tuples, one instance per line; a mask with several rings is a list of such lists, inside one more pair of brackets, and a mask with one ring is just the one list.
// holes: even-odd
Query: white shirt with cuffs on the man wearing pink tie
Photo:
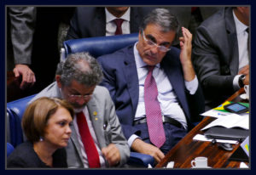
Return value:
[[(143, 62), (143, 59), (138, 54), (136, 45), (137, 43), (134, 45), (133, 52), (135, 56), (139, 81), (139, 98), (135, 114), (135, 121), (146, 116), (144, 104), (144, 82), (148, 75), (148, 69), (145, 67), (146, 64)], [(172, 84), (169, 81), (168, 77), (166, 76), (165, 71), (160, 69), (160, 64), (155, 65), (153, 76), (159, 93), (158, 100), (160, 102), (162, 116), (169, 116), (179, 121), (183, 125), (183, 127), (187, 129), (187, 120), (181, 106), (178, 104), (177, 95), (174, 93)], [(194, 80), (192, 80), (191, 82), (185, 81), (185, 86), (189, 90), (190, 94), (195, 94), (198, 88), (197, 77), (195, 76)], [(128, 144), (130, 146), (135, 140), (135, 138), (138, 138), (138, 136), (133, 134), (128, 139)]]

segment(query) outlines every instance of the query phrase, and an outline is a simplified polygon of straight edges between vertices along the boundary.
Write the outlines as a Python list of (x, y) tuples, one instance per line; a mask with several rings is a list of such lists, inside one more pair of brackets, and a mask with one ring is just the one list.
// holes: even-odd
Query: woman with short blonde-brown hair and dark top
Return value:
[(29, 104), (22, 117), (28, 141), (9, 155), (7, 167), (67, 167), (64, 147), (73, 115), (72, 106), (61, 99), (43, 97)]

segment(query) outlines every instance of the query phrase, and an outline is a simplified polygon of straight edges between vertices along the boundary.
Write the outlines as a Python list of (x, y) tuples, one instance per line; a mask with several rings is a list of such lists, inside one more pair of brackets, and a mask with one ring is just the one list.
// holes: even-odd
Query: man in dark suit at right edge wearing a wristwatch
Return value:
[(248, 26), (249, 7), (223, 8), (196, 31), (193, 64), (207, 110), (249, 82)]

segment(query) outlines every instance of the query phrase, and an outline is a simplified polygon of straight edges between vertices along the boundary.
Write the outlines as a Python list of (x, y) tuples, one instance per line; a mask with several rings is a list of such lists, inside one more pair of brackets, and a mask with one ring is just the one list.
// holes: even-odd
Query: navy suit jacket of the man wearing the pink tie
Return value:
[[(133, 47), (132, 45), (122, 48), (113, 54), (103, 55), (97, 59), (102, 65), (104, 74), (102, 85), (108, 88), (110, 92), (126, 138), (130, 138), (131, 134), (139, 132), (133, 126), (139, 95)], [(172, 50), (166, 54), (166, 57), (160, 63), (160, 67), (164, 69), (172, 83), (189, 126), (191, 121), (200, 120), (201, 116), (199, 114), (204, 111), (201, 88), (199, 87), (194, 95), (186, 93), (183, 71), (179, 61), (179, 50), (172, 47)]]

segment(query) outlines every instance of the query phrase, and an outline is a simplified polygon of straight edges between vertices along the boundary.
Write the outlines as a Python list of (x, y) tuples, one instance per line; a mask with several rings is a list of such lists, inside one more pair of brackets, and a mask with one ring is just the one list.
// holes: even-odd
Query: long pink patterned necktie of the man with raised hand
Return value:
[(148, 76), (144, 83), (144, 102), (147, 116), (150, 141), (160, 148), (166, 142), (160, 103), (157, 99), (158, 90), (154, 81), (154, 66), (148, 65)]

